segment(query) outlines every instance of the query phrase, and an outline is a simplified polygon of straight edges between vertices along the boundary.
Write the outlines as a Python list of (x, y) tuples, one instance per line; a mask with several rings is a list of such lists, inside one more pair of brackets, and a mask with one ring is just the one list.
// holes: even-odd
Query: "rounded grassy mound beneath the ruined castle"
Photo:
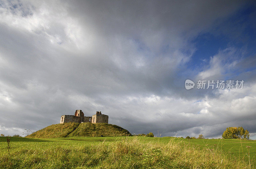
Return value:
[(63, 123), (53, 124), (38, 130), (27, 137), (30, 138), (57, 138), (57, 137), (104, 137), (130, 136), (128, 130), (117, 125), (107, 123)]

